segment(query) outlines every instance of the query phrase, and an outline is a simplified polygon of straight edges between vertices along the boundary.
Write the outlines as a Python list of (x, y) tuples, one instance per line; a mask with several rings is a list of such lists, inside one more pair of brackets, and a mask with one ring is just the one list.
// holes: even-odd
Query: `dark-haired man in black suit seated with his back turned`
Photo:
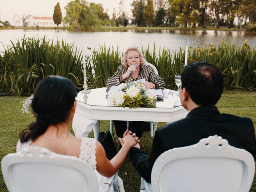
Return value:
[(252, 120), (231, 114), (220, 114), (214, 106), (223, 92), (221, 72), (208, 62), (185, 66), (181, 74), (180, 100), (186, 118), (156, 130), (150, 155), (136, 144), (130, 150), (130, 160), (140, 176), (151, 182), (154, 162), (163, 152), (196, 144), (202, 138), (218, 135), (231, 146), (243, 148), (256, 159), (256, 141)]

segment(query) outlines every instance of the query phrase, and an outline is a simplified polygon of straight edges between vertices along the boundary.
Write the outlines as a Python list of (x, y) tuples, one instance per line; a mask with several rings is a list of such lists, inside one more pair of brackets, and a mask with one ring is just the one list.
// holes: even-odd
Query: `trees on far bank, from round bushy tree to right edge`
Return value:
[(148, 27), (220, 26), (242, 28), (256, 21), (256, 0), (133, 0), (132, 18), (124, 11), (124, 0), (119, 10), (113, 10), (112, 19), (102, 4), (73, 0), (65, 7), (64, 22), (71, 28), (100, 26), (126, 26), (131, 24)]

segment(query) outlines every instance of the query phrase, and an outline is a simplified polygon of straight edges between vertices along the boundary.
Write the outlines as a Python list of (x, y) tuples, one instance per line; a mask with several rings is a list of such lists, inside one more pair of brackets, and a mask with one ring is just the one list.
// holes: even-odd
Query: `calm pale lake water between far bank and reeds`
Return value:
[[(103, 29), (104, 30), (104, 29)], [(88, 48), (98, 49), (100, 45), (113, 46), (114, 50), (118, 47), (120, 51), (125, 50), (128, 46), (138, 46), (153, 50), (154, 44), (156, 51), (159, 48), (170, 48), (171, 50), (179, 50), (185, 46), (204, 46), (206, 44), (218, 44), (224, 39), (241, 46), (244, 40), (248, 40), (251, 45), (256, 44), (256, 35), (245, 34), (243, 31), (202, 31), (202, 30), (123, 30), (123, 31), (97, 31), (97, 32), (69, 32), (67, 30), (0, 30), (0, 52), (4, 50), (4, 46), (10, 46), (12, 40), (20, 39), (23, 36), (42, 37), (46, 35), (54, 40), (64, 39), (83, 51), (83, 54), (90, 54), (92, 51)]]

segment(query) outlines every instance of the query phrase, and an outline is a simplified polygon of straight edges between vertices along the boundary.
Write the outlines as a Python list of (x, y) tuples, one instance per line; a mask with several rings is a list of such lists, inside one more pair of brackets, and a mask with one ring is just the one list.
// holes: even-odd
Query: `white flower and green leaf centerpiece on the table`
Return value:
[(124, 108), (156, 107), (156, 94), (141, 82), (122, 83), (108, 96), (108, 104)]

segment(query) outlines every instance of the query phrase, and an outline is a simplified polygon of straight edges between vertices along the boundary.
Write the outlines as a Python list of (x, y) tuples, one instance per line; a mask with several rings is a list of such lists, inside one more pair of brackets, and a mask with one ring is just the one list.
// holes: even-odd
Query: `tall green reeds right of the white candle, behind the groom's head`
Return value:
[(189, 61), (208, 61), (220, 69), (225, 88), (256, 90), (256, 46), (246, 41), (242, 47), (222, 41), (218, 46), (191, 48)]

